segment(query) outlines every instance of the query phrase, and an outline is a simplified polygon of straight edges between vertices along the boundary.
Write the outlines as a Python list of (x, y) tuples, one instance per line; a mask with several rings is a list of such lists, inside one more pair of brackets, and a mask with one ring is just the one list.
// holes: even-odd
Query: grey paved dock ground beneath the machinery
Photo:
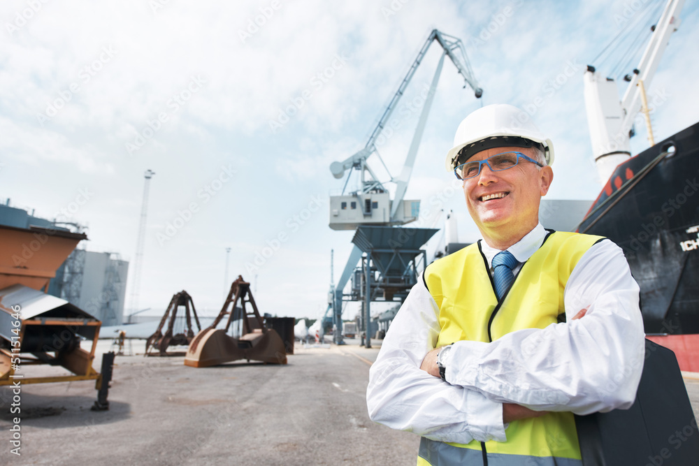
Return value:
[[(138, 354), (115, 359), (106, 412), (90, 410), (94, 381), (22, 386), (21, 456), (10, 453), (12, 389), (0, 387), (0, 465), (415, 465), (419, 437), (366, 411), (380, 342), (347, 342), (297, 342), (287, 365), (193, 368), (144, 357), (136, 340)], [(685, 376), (699, 416), (699, 374)]]

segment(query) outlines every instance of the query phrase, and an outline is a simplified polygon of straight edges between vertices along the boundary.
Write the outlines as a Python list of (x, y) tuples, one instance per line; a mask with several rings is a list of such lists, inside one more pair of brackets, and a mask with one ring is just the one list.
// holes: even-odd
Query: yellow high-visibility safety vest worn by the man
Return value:
[[(578, 233), (549, 234), (538, 251), (524, 263), (499, 304), (487, 270), (487, 260), (477, 244), (431, 263), (424, 277), (440, 308), (441, 330), (437, 347), (459, 340), (489, 342), (514, 330), (545, 328), (556, 323), (559, 314), (565, 312), (563, 291), (570, 273), (582, 255), (601, 239)], [(569, 412), (552, 412), (538, 418), (513, 421), (505, 434), (507, 442), (485, 442), (488, 458), (513, 456), (514, 460), (517, 456), (529, 458), (528, 464), (533, 465), (580, 464), (575, 419)], [(441, 442), (428, 442), (440, 444), (440, 448), (433, 448), (438, 452), (443, 449), (452, 451), (447, 446), (453, 446), (459, 450), (472, 450), (476, 456), (482, 455), (481, 444), (475, 440), (469, 444), (447, 446)], [(466, 456), (474, 454), (459, 450)], [(461, 464), (449, 461), (449, 458), (456, 458), (454, 454), (449, 453), (431, 464)], [(577, 460), (578, 463), (556, 463), (562, 460)], [(475, 464), (481, 463), (482, 460)], [(489, 466), (492, 464), (524, 463), (490, 463), (489, 460)]]

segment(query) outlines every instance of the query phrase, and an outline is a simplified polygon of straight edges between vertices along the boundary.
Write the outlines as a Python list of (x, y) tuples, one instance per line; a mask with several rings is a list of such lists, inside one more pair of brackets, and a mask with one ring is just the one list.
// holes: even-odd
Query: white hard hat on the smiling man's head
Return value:
[(454, 170), (459, 152), (464, 147), (468, 159), (476, 152), (491, 147), (531, 147), (529, 141), (542, 146), (547, 164), (554, 163), (551, 140), (539, 131), (527, 112), (506, 103), (487, 105), (468, 115), (459, 124), (454, 136), (454, 147), (447, 152), (445, 166), (447, 171)]

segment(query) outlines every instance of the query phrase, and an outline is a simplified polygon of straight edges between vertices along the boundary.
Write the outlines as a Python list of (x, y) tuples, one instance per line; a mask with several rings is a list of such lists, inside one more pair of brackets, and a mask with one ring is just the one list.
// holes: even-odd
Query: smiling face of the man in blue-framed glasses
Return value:
[[(508, 151), (535, 159), (533, 149), (493, 147), (478, 152), (468, 161)], [(541, 196), (549, 191), (553, 177), (551, 167), (539, 169), (534, 163), (519, 159), (517, 166), (496, 172), (484, 164), (479, 175), (463, 180), (468, 213), (491, 247), (507, 249), (536, 226)]]

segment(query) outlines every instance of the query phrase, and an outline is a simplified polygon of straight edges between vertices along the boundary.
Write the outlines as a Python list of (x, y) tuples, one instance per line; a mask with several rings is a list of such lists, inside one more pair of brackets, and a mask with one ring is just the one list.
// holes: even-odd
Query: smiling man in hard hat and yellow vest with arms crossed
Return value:
[(422, 436), (418, 465), (582, 465), (573, 414), (633, 404), (638, 286), (610, 240), (539, 224), (553, 158), (511, 105), (456, 130), (447, 169), (483, 239), (428, 265), (367, 388), (373, 421)]

